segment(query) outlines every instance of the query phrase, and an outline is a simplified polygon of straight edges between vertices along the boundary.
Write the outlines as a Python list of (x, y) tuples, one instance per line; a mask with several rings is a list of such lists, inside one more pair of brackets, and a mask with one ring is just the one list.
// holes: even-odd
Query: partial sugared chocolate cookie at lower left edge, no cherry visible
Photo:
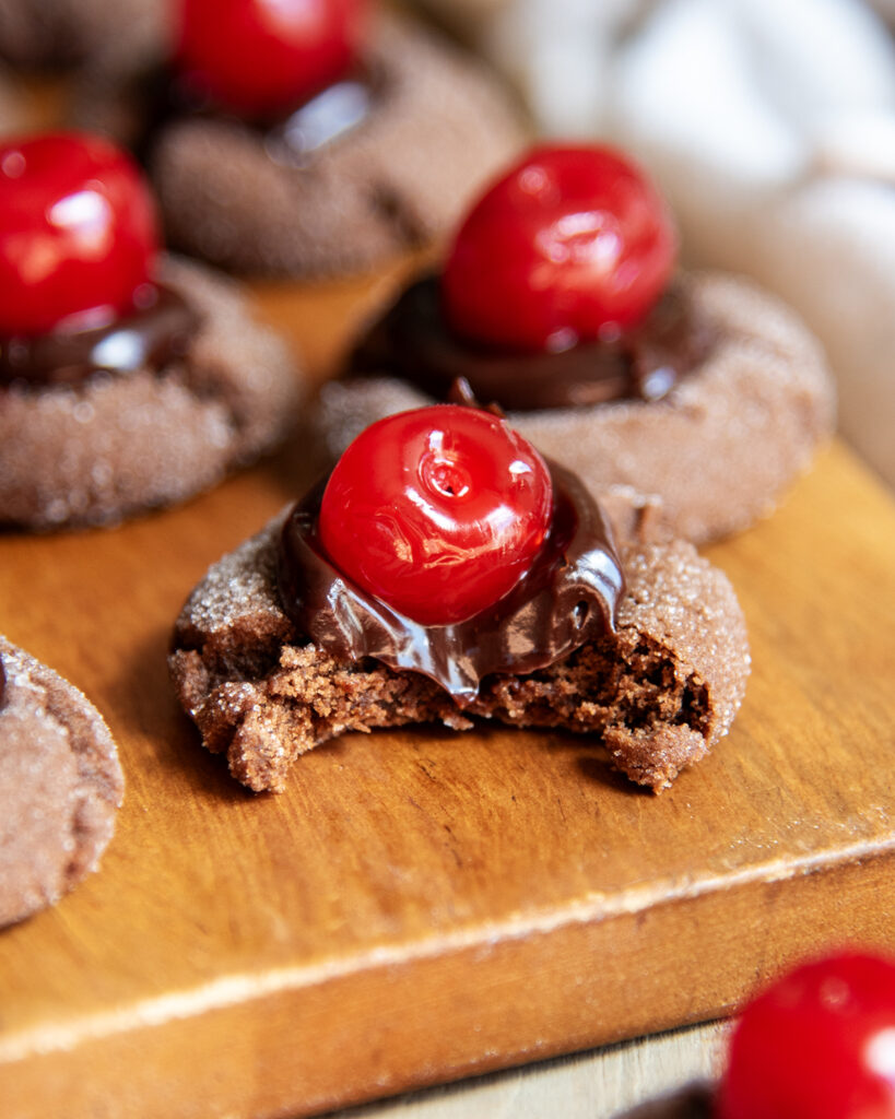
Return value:
[(51, 905), (96, 869), (123, 789), (96, 708), (0, 637), (0, 927)]

